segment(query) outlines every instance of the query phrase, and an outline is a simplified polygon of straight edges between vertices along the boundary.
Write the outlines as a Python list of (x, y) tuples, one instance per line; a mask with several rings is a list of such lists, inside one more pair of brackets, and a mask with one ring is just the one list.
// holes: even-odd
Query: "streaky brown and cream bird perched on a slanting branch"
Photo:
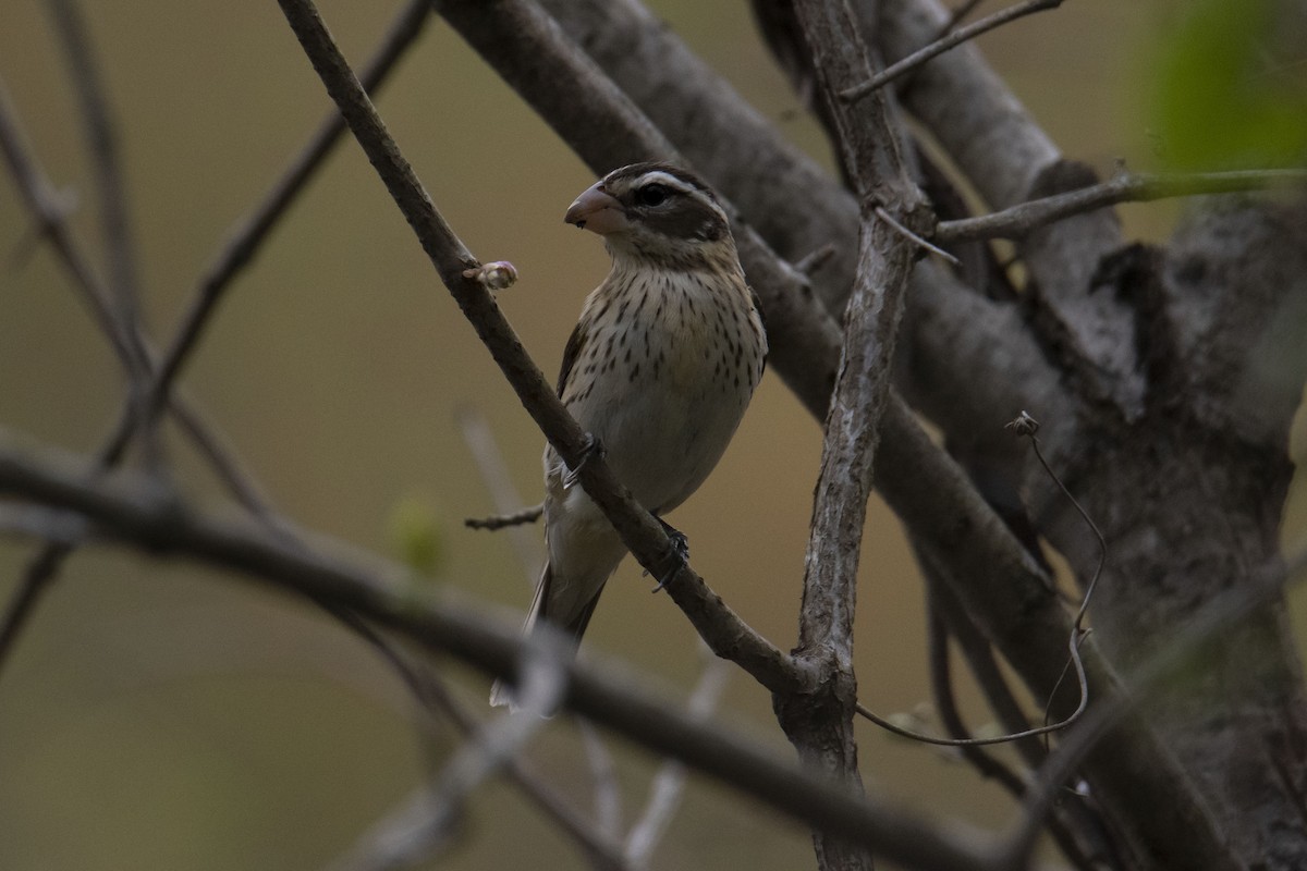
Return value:
[[(604, 238), (612, 269), (567, 340), (558, 397), (587, 434), (586, 457), (600, 453), (685, 555), (663, 515), (716, 466), (767, 359), (731, 221), (702, 179), (663, 162), (613, 170), (565, 221)], [(544, 471), (548, 562), (523, 632), (549, 623), (575, 650), (626, 547), (552, 445)], [(505, 682), (490, 703), (512, 705)]]

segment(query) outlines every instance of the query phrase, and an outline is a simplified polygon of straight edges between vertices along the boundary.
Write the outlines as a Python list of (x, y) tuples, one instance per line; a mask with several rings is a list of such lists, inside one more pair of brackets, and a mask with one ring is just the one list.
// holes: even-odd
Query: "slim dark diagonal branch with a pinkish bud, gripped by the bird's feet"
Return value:
[[(278, 1), (305, 54), (417, 234), (440, 279), (518, 393), (523, 407), (563, 461), (578, 469), (586, 492), (604, 511), (626, 547), (650, 573), (668, 578), (668, 590), (718, 656), (737, 662), (769, 688), (791, 687), (801, 682), (802, 675), (793, 661), (736, 616), (707, 588), (703, 578), (686, 565), (663, 525), (631, 499), (608, 465), (595, 457), (584, 464), (580, 461), (586, 453), (586, 434), (549, 388), (540, 367), (527, 354), (491, 294), (474, 277), (469, 277), (474, 276), (469, 270), (476, 270), (480, 262), (435, 210), (316, 9), (308, 0)], [(505, 4), (497, 4), (495, 8), (502, 5)]]

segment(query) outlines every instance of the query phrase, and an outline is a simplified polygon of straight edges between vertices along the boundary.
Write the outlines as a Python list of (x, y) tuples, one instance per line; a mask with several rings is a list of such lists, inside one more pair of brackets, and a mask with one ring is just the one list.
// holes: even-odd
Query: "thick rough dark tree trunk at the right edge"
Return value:
[[(1128, 249), (1103, 274), (1094, 293), (1137, 311), (1142, 410), (1127, 419), (1085, 397), (1081, 437), (1050, 448), (1110, 542), (1094, 626), (1128, 673), (1199, 607), (1280, 568), (1307, 364), (1307, 205), (1209, 202), (1166, 252)], [(1084, 522), (1047, 484), (1033, 490), (1039, 525), (1090, 577)], [(1249, 867), (1307, 867), (1307, 697), (1282, 605), (1150, 710)]]

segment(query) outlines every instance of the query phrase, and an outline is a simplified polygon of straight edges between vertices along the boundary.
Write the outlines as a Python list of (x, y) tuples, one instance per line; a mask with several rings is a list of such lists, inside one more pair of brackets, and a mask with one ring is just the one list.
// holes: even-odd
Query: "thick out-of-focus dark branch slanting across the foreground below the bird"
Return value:
[[(472, 611), (396, 565), (370, 559), (346, 563), (328, 554), (344, 545), (314, 539), (289, 545), (248, 521), (196, 515), (157, 490), (91, 479), (67, 461), (31, 460), (0, 445), (0, 494), (88, 517), (98, 531), (157, 555), (179, 555), (222, 567), (257, 582), (331, 601), (495, 675), (518, 665), (521, 639), (515, 627)], [(843, 789), (780, 761), (770, 751), (720, 726), (707, 726), (620, 680), (606, 670), (567, 666), (566, 704), (648, 750), (742, 790), (788, 816), (821, 827), (910, 868), (975, 871), (991, 855), (984, 842), (927, 823), (901, 808), (855, 798)]]

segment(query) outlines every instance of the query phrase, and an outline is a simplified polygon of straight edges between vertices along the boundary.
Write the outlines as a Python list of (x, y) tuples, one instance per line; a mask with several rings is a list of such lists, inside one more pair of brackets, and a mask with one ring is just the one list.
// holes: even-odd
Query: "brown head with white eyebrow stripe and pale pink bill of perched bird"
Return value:
[(736, 259), (731, 222), (712, 191), (668, 163), (613, 170), (576, 197), (565, 219), (604, 236), (614, 259), (673, 269)]

